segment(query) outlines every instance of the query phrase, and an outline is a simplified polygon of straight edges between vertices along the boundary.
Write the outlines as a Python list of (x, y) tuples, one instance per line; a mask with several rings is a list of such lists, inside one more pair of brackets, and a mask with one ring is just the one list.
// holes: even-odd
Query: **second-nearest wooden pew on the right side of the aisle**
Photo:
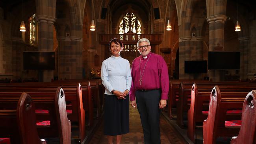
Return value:
[(244, 100), (245, 96), (243, 98), (222, 98), (219, 87), (213, 88), (210, 95), (208, 117), (203, 122), (204, 144), (215, 144), (217, 137), (232, 137), (238, 134), (238, 128), (226, 127), (226, 112), (230, 109), (241, 109)]

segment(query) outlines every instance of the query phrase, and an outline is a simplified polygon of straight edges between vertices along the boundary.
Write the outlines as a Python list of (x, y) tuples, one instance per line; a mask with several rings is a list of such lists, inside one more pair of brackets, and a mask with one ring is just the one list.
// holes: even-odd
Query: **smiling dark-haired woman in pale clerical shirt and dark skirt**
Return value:
[(101, 66), (101, 79), (105, 90), (104, 134), (112, 144), (117, 136), (120, 144), (122, 135), (129, 133), (129, 96), (132, 83), (130, 63), (120, 57), (123, 44), (119, 39), (109, 42), (111, 57)]

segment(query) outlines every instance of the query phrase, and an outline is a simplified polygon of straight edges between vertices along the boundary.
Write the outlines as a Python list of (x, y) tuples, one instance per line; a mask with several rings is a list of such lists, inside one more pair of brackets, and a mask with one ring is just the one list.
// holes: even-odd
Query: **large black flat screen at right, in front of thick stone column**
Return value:
[(239, 70), (240, 52), (208, 52), (209, 70)]

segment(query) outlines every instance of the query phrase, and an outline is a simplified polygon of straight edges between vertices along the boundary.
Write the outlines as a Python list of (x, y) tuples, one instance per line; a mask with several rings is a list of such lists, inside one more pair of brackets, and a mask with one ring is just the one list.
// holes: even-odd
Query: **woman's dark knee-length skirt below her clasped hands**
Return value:
[(129, 133), (129, 96), (125, 98), (105, 94), (104, 135)]

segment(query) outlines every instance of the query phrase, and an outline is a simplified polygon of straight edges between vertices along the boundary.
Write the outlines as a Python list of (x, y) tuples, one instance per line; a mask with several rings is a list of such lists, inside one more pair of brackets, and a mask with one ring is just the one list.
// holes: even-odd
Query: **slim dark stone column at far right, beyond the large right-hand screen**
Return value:
[(248, 47), (249, 37), (239, 37), (239, 50), (240, 50), (240, 78), (247, 79), (248, 72)]

